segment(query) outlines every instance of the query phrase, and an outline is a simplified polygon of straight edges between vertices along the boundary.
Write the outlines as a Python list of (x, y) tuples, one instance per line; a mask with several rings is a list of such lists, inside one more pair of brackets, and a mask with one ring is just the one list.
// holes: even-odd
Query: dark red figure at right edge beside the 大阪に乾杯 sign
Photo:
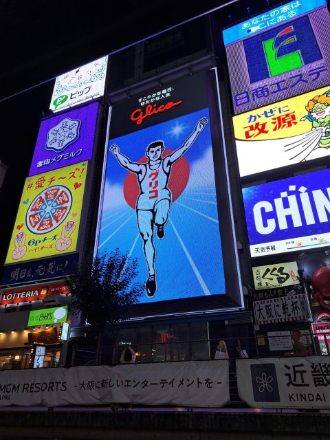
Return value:
[(314, 303), (318, 303), (322, 309), (326, 310), (318, 314), (318, 321), (322, 318), (330, 318), (330, 266), (316, 269), (311, 276), (311, 284), (315, 292)]

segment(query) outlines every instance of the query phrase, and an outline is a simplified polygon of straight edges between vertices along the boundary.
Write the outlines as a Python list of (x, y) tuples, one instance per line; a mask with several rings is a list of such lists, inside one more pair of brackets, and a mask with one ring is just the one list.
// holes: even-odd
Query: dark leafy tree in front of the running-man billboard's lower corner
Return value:
[(129, 318), (131, 306), (142, 295), (143, 285), (134, 282), (137, 274), (137, 259), (131, 259), (117, 248), (78, 266), (67, 278), (72, 314), (81, 314), (98, 334), (96, 362), (104, 333)]

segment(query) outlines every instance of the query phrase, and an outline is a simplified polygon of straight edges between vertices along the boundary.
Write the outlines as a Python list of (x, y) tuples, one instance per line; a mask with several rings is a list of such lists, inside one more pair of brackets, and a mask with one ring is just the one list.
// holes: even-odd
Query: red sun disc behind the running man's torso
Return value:
[[(162, 157), (170, 155), (174, 150), (165, 150)], [(141, 157), (137, 161), (138, 164), (146, 164), (148, 159), (146, 157)], [(172, 201), (175, 201), (184, 189), (186, 188), (189, 180), (189, 164), (186, 157), (181, 157), (175, 164), (172, 166), (172, 170), (170, 171), (170, 179), (168, 180), (168, 189), (172, 193)], [(137, 175), (133, 173), (127, 173), (126, 179), (124, 181), (124, 197), (126, 203), (131, 206), (131, 208), (135, 209), (137, 197), (140, 195), (140, 187), (137, 181)]]

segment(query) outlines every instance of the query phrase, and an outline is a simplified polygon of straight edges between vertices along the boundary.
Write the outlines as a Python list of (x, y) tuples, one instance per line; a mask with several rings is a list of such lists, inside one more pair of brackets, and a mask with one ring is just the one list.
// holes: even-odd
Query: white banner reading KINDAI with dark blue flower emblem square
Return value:
[(330, 358), (236, 360), (239, 397), (252, 408), (330, 408)]

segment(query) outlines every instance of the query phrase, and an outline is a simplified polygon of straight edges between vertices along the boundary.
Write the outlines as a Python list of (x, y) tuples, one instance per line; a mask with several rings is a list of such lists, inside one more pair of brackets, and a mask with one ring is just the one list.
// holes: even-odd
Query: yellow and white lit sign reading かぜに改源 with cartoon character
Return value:
[(234, 116), (241, 177), (329, 156), (330, 86)]

